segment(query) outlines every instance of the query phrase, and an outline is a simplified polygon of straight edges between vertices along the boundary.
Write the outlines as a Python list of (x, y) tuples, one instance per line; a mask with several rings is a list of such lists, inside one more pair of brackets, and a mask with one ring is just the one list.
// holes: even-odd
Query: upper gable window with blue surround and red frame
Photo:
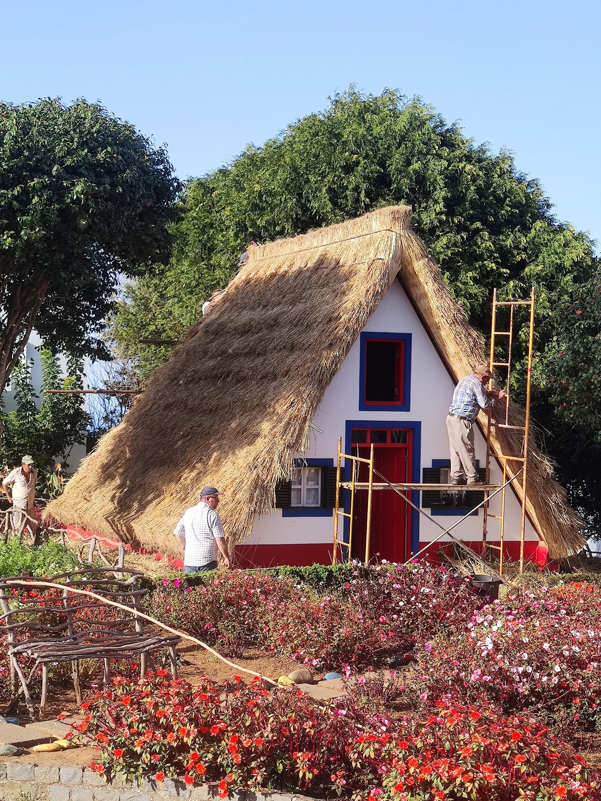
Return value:
[(359, 409), (409, 411), (410, 334), (361, 334)]

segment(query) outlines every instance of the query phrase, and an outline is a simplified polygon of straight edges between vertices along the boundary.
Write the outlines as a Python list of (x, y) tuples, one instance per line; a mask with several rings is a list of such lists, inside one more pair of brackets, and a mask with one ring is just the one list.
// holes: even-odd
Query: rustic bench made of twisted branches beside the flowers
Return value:
[[(103, 685), (111, 680), (111, 659), (140, 659), (140, 675), (146, 674), (148, 663), (155, 669), (151, 652), (168, 650), (171, 674), (176, 678), (175, 646), (180, 638), (159, 636), (136, 612), (143, 613), (140, 599), (147, 590), (139, 588), (139, 570), (92, 569), (64, 573), (48, 579), (63, 585), (63, 590), (49, 590), (28, 579), (27, 586), (10, 586), (10, 578), (0, 579), (0, 626), (8, 642), (10, 683), (13, 698), (23, 693), (27, 709), (35, 717), (29, 683), (38, 666), (42, 667), (40, 718), (48, 694), (48, 665), (71, 662), (75, 699), (82, 702), (78, 662), (103, 659)], [(115, 578), (118, 577), (118, 578)], [(115, 607), (87, 595), (70, 593), (70, 587), (91, 590), (103, 598), (127, 607)], [(1, 630), (1, 629), (0, 629)], [(34, 665), (26, 676), (19, 658), (33, 658)], [(26, 659), (22, 659), (23, 662)], [(18, 689), (17, 678), (21, 684)]]

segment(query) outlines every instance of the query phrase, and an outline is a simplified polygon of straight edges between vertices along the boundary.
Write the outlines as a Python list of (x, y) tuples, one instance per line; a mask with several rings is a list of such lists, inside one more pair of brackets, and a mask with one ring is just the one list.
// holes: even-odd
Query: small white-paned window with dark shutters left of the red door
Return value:
[(333, 459), (296, 459), (292, 479), (276, 486), (282, 517), (331, 517), (335, 501)]

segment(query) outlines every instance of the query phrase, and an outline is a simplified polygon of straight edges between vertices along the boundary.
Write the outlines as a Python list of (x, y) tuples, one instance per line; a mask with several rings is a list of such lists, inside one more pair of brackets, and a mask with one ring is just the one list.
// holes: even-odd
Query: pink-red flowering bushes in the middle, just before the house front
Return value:
[(439, 630), (457, 631), (483, 600), (469, 580), (427, 564), (349, 570), (319, 594), (288, 575), (217, 574), (206, 586), (165, 578), (152, 594), (159, 618), (240, 656), (277, 650), (316, 670), (377, 665)]

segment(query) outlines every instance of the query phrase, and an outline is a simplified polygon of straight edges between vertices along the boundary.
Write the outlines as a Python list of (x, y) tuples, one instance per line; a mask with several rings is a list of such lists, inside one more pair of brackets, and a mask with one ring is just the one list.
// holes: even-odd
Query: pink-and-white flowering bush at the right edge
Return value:
[(531, 710), (569, 731), (601, 731), (601, 590), (528, 591), (439, 634), (420, 664), (428, 691)]

